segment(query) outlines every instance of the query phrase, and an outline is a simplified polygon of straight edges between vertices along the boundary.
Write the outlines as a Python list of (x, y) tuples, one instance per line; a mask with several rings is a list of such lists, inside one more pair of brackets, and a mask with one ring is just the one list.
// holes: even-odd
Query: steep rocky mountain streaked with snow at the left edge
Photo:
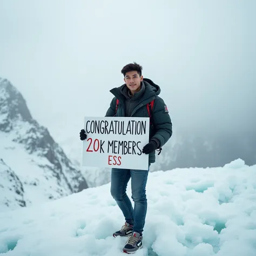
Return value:
[[(24, 194), (23, 206), (37, 203), (38, 198), (57, 199), (88, 187), (81, 171), (66, 157), (48, 129), (32, 118), (22, 94), (1, 78), (0, 141), (0, 187), (9, 194), (0, 198), (0, 206), (15, 205), (10, 193), (16, 190), (9, 190), (14, 186), (21, 187), (18, 191), (22, 197)], [(17, 179), (9, 179), (10, 175)], [(16, 206), (22, 206), (23, 198), (15, 201)]]

